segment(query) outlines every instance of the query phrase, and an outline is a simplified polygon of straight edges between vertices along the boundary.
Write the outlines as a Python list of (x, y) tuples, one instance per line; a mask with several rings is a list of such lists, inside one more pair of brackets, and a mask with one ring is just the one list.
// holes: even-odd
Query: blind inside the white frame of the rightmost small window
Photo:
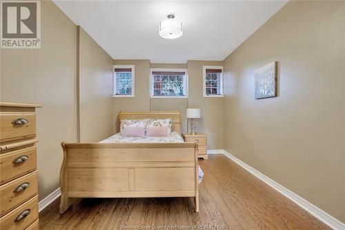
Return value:
[(221, 69), (206, 68), (205, 89), (206, 95), (221, 95), (222, 75)]

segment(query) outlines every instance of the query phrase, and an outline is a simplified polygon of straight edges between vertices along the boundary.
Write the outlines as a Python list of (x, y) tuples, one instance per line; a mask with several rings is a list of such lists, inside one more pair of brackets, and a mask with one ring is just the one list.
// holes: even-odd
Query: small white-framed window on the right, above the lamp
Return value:
[(222, 66), (204, 66), (204, 97), (223, 97)]

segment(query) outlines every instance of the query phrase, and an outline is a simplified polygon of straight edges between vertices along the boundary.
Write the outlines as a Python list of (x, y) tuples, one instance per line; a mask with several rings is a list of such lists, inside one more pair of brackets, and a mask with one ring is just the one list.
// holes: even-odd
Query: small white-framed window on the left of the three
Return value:
[(113, 97), (134, 97), (134, 66), (114, 66)]

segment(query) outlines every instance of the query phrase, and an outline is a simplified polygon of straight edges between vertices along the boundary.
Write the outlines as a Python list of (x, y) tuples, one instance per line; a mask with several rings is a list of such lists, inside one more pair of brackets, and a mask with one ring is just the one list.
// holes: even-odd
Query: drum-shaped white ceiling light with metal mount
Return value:
[(175, 19), (175, 15), (170, 14), (168, 19), (159, 23), (159, 35), (165, 39), (177, 39), (182, 36), (182, 23)]

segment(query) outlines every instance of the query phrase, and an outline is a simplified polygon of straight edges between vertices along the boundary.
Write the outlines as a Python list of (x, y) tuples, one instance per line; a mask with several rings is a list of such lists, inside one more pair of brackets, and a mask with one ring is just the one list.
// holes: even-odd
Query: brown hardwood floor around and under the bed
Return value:
[(192, 198), (97, 198), (60, 215), (56, 200), (39, 213), (40, 229), (330, 229), (224, 155), (199, 165), (199, 213)]

